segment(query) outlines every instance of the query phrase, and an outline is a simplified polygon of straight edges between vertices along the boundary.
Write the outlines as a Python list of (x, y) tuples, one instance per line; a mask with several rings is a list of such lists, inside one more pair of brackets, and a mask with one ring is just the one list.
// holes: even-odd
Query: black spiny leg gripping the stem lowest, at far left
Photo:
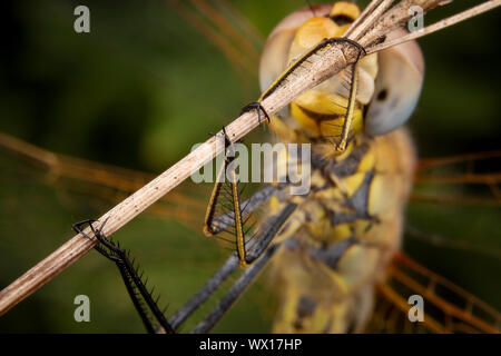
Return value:
[(164, 330), (167, 334), (174, 334), (174, 328), (167, 322), (164, 313), (158, 307), (158, 298), (156, 300), (154, 299), (153, 288), (151, 290), (148, 290), (146, 288), (146, 283), (144, 283), (141, 279), (143, 275), (139, 276), (138, 269), (134, 266), (134, 261), (130, 260), (129, 254), (125, 249), (120, 248), (119, 244), (115, 244), (114, 240), (107, 238), (102, 233), (102, 229), (107, 220), (105, 220), (105, 222), (99, 228), (94, 227), (95, 221), (96, 220), (92, 219), (84, 220), (75, 224), (72, 228), (77, 234), (82, 234), (84, 236), (90, 239), (90, 236), (84, 233), (81, 228), (84, 225), (87, 224), (89, 225), (90, 229), (92, 230), (92, 234), (99, 241), (99, 245), (95, 247), (96, 250), (99, 251), (106, 258), (112, 260), (117, 265), (120, 271), (120, 276), (122, 277), (127, 291), (130, 296), (130, 299), (132, 300), (132, 304), (136, 307), (136, 310), (138, 312), (143, 320), (143, 324), (145, 325), (148, 333), (150, 334), (156, 333), (156, 328), (144, 303), (147, 304), (153, 316), (158, 322), (158, 324), (164, 328)]

